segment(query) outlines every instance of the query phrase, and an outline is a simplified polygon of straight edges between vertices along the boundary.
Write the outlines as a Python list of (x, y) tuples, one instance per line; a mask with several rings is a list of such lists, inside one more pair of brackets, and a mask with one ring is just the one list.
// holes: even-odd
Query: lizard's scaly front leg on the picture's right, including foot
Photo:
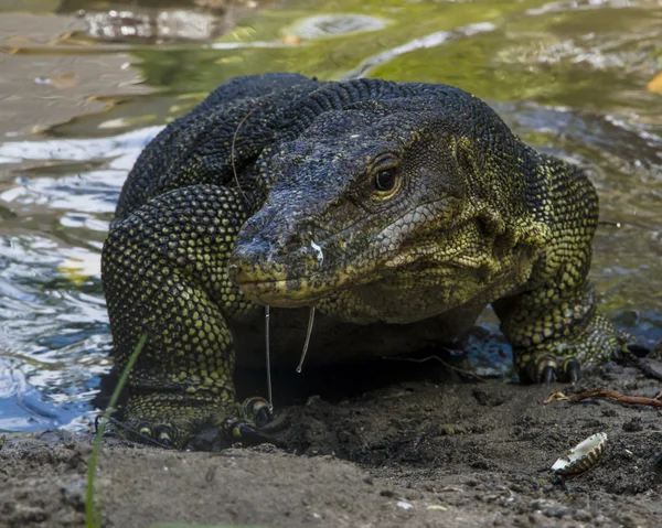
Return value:
[(587, 279), (599, 211), (594, 185), (553, 158), (537, 157), (534, 170), (528, 197), (551, 236), (526, 283), (493, 308), (524, 381), (575, 381), (583, 368), (618, 358), (630, 337), (597, 312)]

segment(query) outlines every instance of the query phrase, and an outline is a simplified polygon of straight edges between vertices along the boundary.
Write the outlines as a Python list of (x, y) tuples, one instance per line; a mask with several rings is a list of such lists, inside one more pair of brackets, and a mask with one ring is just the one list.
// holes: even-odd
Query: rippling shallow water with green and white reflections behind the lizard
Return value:
[[(487, 99), (525, 141), (590, 170), (601, 218), (621, 224), (596, 237), (602, 310), (662, 340), (662, 95), (647, 90), (662, 2), (310, 4), (0, 0), (0, 430), (85, 427), (109, 369), (99, 252), (127, 171), (163, 123), (242, 74)], [(493, 344), (501, 355), (472, 354), (481, 371), (508, 368)]]

